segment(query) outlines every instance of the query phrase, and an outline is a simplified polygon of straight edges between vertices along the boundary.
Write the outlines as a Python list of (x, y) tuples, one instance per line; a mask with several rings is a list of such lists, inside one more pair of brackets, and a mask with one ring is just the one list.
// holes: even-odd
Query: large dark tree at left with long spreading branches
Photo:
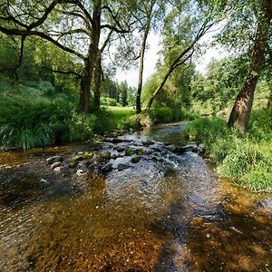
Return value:
[[(21, 37), (21, 56), (25, 38), (35, 35), (72, 53), (77, 62), (83, 63), (80, 73), (80, 108), (83, 112), (91, 110), (90, 89), (97, 57), (102, 53), (99, 48), (101, 34), (107, 36), (112, 30), (118, 33), (129, 31), (124, 29), (127, 24), (121, 24), (121, 9), (125, 10), (125, 4), (103, 4), (102, 0), (27, 3), (5, 0), (0, 5), (0, 31)], [(130, 20), (125, 21), (129, 24)], [(98, 64), (97, 67), (99, 70)]]

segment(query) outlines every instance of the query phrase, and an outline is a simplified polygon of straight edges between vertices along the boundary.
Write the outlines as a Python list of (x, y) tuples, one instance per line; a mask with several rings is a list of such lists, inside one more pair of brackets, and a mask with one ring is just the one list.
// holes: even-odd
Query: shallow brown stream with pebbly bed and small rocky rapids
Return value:
[(272, 271), (272, 195), (177, 152), (183, 129), (0, 152), (0, 272)]

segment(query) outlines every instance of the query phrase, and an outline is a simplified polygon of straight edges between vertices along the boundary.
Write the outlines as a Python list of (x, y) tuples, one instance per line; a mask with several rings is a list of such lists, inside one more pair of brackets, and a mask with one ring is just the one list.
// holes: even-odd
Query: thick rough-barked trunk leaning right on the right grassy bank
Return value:
[(251, 62), (248, 67), (248, 75), (242, 90), (238, 93), (232, 111), (229, 115), (228, 125), (236, 127), (238, 131), (247, 131), (248, 121), (252, 110), (254, 92), (257, 80), (261, 72), (265, 46), (269, 36), (268, 29), (271, 21), (272, 2), (262, 1), (262, 10), (258, 15), (257, 32), (252, 51)]

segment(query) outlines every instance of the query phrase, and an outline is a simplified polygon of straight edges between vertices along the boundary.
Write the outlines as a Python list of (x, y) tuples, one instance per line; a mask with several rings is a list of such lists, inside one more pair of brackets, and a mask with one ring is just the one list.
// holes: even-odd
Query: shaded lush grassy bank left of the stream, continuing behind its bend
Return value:
[[(12, 84), (0, 79), (0, 146), (24, 150), (71, 141), (84, 141), (94, 133), (139, 129), (131, 107), (107, 107), (95, 114), (78, 111), (77, 94), (56, 92), (51, 83)], [(154, 108), (152, 124), (192, 120), (194, 112)]]

